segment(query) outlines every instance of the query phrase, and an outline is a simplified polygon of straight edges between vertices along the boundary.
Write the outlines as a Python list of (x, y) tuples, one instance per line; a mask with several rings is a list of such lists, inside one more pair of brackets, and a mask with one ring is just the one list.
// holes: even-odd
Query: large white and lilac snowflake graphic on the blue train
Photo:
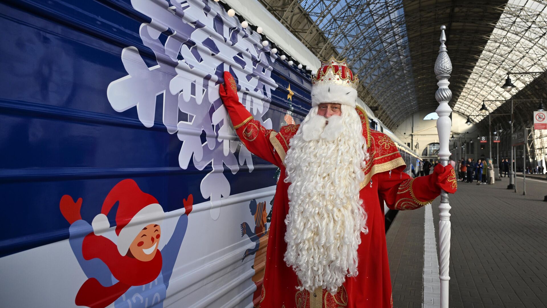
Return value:
[[(218, 219), (218, 201), (230, 195), (224, 166), (233, 174), (244, 164), (249, 172), (253, 170), (251, 153), (238, 141), (218, 95), (222, 72), (236, 76), (240, 101), (271, 129), (271, 119), (263, 116), (277, 87), (271, 78), (276, 57), (263, 47), (258, 33), (242, 28), (216, 2), (132, 0), (131, 4), (152, 19), (141, 25), (139, 35), (158, 64), (148, 67), (136, 47), (124, 48), (121, 61), (128, 75), (109, 84), (110, 105), (118, 112), (136, 107), (139, 121), (153, 127), (156, 101), (163, 101), (162, 122), (168, 133), (183, 141), (179, 166), (187, 169), (192, 161), (199, 170), (212, 167), (200, 189), (211, 200), (212, 218)], [(204, 132), (206, 142), (201, 139)]]

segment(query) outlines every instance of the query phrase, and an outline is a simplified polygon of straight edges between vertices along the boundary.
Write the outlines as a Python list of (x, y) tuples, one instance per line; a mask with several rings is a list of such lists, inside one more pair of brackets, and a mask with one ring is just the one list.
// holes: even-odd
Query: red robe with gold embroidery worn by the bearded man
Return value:
[[(359, 192), (368, 214), (366, 224), (369, 228), (368, 234), (361, 233), (361, 244), (357, 249), (359, 275), (346, 277), (346, 282), (335, 295), (325, 289), (315, 292), (300, 291), (295, 288), (299, 285), (298, 278), (283, 261), (287, 250), (287, 243), (284, 241), (287, 226), (284, 219), (289, 212), (287, 189), (290, 185), (283, 182), (283, 161), (289, 140), (296, 134), (299, 125), (284, 126), (280, 132), (265, 129), (238, 101), (234, 79), (228, 75), (225, 82), (228, 86), (224, 88), (221, 85), (220, 95), (237, 135), (249, 151), (281, 169), (267, 242), (260, 307), (393, 307), (383, 203), (385, 201), (389, 208), (398, 210), (417, 209), (430, 203), (440, 194), (433, 178), (435, 174), (412, 179), (404, 173), (406, 165), (397, 146), (387, 135), (371, 130), (366, 112), (356, 106), (370, 154), (364, 169), (365, 180), (361, 183), (362, 189)], [(454, 185), (455, 180), (454, 177)], [(452, 179), (449, 180), (449, 185), (452, 185)]]

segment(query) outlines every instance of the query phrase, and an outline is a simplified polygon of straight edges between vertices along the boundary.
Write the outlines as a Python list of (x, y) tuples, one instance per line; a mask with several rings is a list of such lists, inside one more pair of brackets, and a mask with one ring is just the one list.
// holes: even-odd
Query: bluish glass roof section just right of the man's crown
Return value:
[(300, 4), (395, 122), (418, 110), (402, 0)]

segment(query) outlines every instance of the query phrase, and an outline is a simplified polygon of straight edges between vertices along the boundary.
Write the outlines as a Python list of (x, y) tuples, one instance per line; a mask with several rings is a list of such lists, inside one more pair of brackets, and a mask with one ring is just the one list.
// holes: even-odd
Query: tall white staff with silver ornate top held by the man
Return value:
[[(450, 82), (450, 73), (452, 72), (452, 63), (446, 53), (446, 26), (441, 26), (441, 47), (439, 48), (439, 55), (437, 61), (435, 61), (435, 75), (439, 82), (437, 85), (439, 89), (435, 92), (435, 99), (439, 102), (439, 107), (435, 112), (439, 115), (437, 119), (437, 132), (439, 134), (439, 157), (440, 163), (443, 166), (449, 164), (449, 138), (450, 130), (452, 128), (452, 120), (450, 119), (450, 113), (452, 109), (448, 105), (448, 102), (452, 98), (452, 91), (448, 88)], [(448, 282), (449, 276), (449, 263), (450, 263), (450, 204), (448, 193), (441, 190), (441, 204), (439, 205), (440, 221), (439, 221), (439, 246), (440, 246), (440, 282), (441, 282), (441, 308), (448, 308)]]

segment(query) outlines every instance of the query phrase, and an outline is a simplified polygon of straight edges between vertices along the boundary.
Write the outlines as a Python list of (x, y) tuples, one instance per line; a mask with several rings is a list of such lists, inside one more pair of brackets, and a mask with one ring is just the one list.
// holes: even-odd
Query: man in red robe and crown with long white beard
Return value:
[(265, 129), (224, 73), (220, 97), (249, 151), (281, 168), (261, 308), (392, 307), (383, 203), (417, 209), (444, 189), (452, 166), (412, 179), (397, 146), (356, 105), (359, 79), (331, 58), (312, 78), (304, 121)]

